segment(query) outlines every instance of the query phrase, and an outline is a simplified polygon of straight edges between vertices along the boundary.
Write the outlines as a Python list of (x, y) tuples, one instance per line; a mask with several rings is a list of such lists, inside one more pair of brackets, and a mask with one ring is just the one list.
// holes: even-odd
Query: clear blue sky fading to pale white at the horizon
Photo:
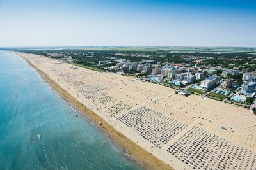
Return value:
[(0, 47), (256, 47), (256, 1), (0, 0)]

